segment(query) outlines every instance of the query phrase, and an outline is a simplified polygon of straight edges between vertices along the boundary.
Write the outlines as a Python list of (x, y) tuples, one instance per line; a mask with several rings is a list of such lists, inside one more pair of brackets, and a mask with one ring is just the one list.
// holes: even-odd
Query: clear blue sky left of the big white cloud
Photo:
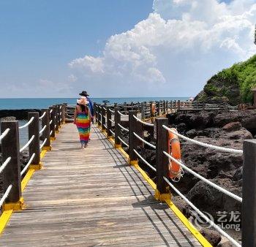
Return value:
[(65, 80), (69, 61), (97, 56), (151, 9), (145, 0), (1, 0), (0, 85)]

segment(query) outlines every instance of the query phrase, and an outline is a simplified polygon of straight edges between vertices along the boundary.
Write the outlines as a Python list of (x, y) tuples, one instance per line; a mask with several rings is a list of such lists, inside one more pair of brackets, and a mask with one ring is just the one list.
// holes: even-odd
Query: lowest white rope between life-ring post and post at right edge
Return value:
[(217, 224), (214, 223), (214, 221), (211, 221), (211, 219), (209, 219), (204, 213), (202, 213), (192, 202), (189, 201), (189, 199), (187, 199), (187, 197), (184, 196), (184, 194), (181, 194), (180, 191), (178, 191), (178, 189), (176, 189), (175, 186), (173, 186), (172, 183), (170, 183), (170, 181), (163, 177), (165, 182), (168, 183), (168, 185), (182, 198), (184, 199), (185, 202), (187, 202), (187, 204), (193, 208), (193, 210), (195, 210), (202, 218), (204, 218), (204, 220), (211, 224), (211, 227), (214, 227), (214, 229), (216, 229), (221, 235), (223, 235), (225, 238), (227, 238), (228, 240), (230, 240), (231, 243), (233, 243), (235, 246), (239, 246), (241, 247), (241, 245), (236, 242), (236, 240), (234, 240), (233, 238), (230, 237), (230, 235), (228, 235), (226, 232), (224, 232), (220, 227), (217, 226)]

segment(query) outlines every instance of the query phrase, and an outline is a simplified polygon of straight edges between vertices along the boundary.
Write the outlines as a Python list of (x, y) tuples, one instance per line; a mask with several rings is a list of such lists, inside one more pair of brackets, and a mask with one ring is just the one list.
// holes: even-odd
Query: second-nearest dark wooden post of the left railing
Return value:
[(31, 164), (34, 168), (40, 169), (40, 137), (39, 137), (39, 113), (28, 113), (28, 120), (34, 117), (34, 120), (29, 124), (29, 140), (34, 135), (34, 140), (29, 145), (29, 156), (35, 154)]

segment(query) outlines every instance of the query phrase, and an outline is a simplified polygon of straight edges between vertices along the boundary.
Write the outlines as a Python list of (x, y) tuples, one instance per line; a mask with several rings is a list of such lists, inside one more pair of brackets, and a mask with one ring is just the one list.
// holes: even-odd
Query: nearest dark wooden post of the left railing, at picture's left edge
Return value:
[[(8, 134), (1, 140), (1, 152), (3, 161), (11, 157), (9, 164), (3, 171), (3, 191), (5, 192), (10, 185), (12, 189), (6, 202), (20, 202), (21, 197), (21, 179), (20, 179), (20, 140), (18, 131), (18, 121), (2, 121), (1, 133), (10, 129)], [(18, 209), (21, 209), (20, 208)], [(5, 209), (5, 205), (4, 205)]]

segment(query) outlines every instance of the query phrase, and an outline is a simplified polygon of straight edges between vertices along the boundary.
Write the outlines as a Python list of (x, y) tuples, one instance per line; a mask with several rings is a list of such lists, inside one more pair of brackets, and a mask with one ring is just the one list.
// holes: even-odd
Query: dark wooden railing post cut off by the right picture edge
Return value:
[(244, 140), (242, 246), (256, 246), (256, 140)]

